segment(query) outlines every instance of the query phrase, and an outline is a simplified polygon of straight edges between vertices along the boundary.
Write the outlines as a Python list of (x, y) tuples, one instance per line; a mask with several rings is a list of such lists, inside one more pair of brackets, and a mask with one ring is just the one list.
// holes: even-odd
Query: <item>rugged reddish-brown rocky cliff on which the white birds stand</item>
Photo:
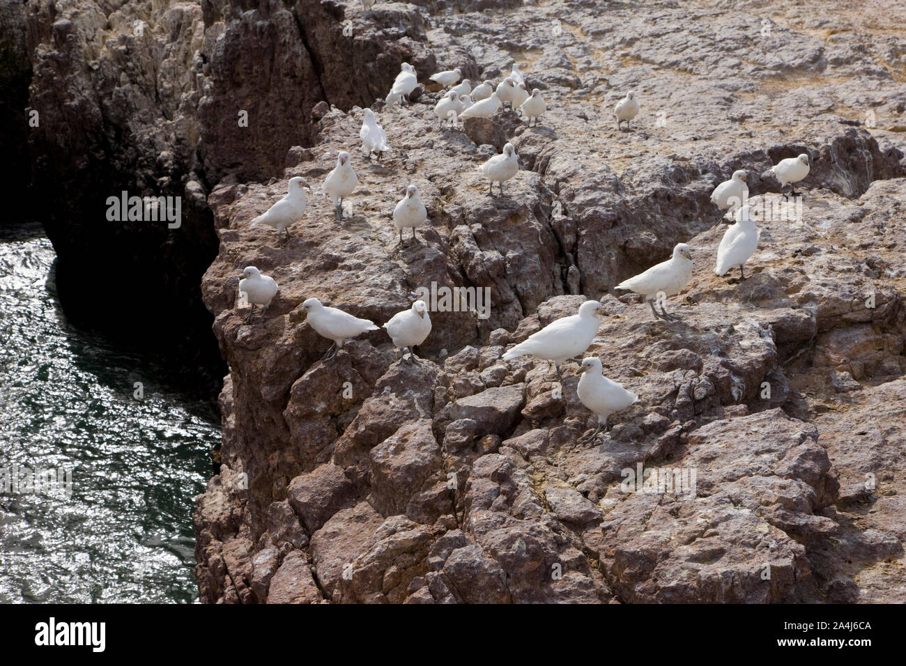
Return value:
[[(229, 374), (223, 464), (197, 499), (202, 600), (903, 601), (898, 5), (28, 3), (45, 45), (32, 105), (50, 95), (54, 122), (81, 123), (39, 135), (63, 160), (39, 178), (62, 178), (63, 198), (72, 169), (167, 176), (197, 202), (193, 233), (216, 230), (201, 294)], [(135, 17), (145, 43), (124, 27)], [(75, 48), (89, 64), (52, 82)], [(373, 104), (392, 150), (371, 161), (361, 108), (404, 60), (422, 82), (455, 66), (499, 82), (515, 61), (549, 111), (532, 129), (508, 111), (441, 129), (427, 86), (408, 107)], [(630, 89), (642, 111), (619, 131), (610, 109)], [(475, 167), (506, 140), (523, 169), (490, 197)], [(361, 181), (340, 220), (319, 190), (338, 150)], [(797, 216), (768, 169), (801, 152)], [(708, 199), (735, 169), (753, 203), (783, 211), (757, 220), (741, 284), (714, 275)], [(313, 195), (281, 246), (250, 221), (294, 176)], [(429, 226), (400, 246), (390, 213), (410, 183)], [(682, 321), (661, 323), (612, 287), (679, 241), (695, 270), (673, 299)], [(246, 265), (280, 285), (264, 323), (236, 304)], [(319, 360), (329, 343), (304, 298), (383, 323), (432, 284), (487, 288), (489, 316), (432, 312), (420, 366), (383, 331)], [(607, 309), (588, 353), (640, 396), (593, 443), (574, 366), (557, 381), (500, 358), (585, 298)], [(694, 471), (694, 492), (627, 488), (641, 469)]]

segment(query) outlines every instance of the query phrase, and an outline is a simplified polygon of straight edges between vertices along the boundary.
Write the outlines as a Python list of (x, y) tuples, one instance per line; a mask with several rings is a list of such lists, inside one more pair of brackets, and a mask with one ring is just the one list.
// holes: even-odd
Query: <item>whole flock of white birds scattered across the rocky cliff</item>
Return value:
[[(362, 5), (368, 9), (373, 5), (373, 0), (362, 0)], [(472, 88), (469, 80), (460, 82), (461, 76), (461, 70), (456, 68), (438, 72), (430, 77), (431, 81), (438, 83), (443, 88), (449, 88), (434, 108), (441, 125), (449, 122), (451, 126), (455, 126), (458, 119), (489, 118), (505, 104), (509, 104), (513, 110), (521, 110), (531, 126), (533, 122), (537, 124), (538, 118), (547, 110), (546, 102), (537, 88), (531, 94), (527, 92), (525, 78), (516, 63), (513, 64), (510, 74), (496, 88), (489, 81), (481, 82)], [(415, 69), (409, 63), (402, 63), (400, 73), (385, 100), (386, 103), (398, 104), (408, 101), (410, 93), (415, 90), (417, 85), (418, 78)], [(636, 93), (627, 92), (626, 96), (613, 109), (617, 128), (622, 130), (622, 123), (625, 122), (626, 130), (629, 130), (630, 121), (639, 114), (640, 109)], [(364, 110), (360, 138), (362, 148), (367, 151), (370, 159), (372, 154), (377, 153), (380, 160), (383, 153), (390, 150), (387, 134), (381, 128), (371, 109)], [(490, 194), (493, 196), (496, 182), (499, 184), (502, 195), (503, 183), (514, 178), (519, 169), (515, 147), (512, 143), (506, 143), (499, 155), (487, 159), (477, 169), (488, 179)], [(791, 186), (790, 195), (798, 196), (795, 191), (795, 183), (805, 179), (809, 169), (809, 157), (802, 154), (796, 158), (781, 160), (771, 171), (782, 187)], [(337, 158), (336, 167), (327, 175), (323, 183), (323, 191), (332, 198), (337, 217), (341, 215), (343, 199), (350, 196), (358, 186), (359, 179), (352, 169), (350, 154), (342, 151)], [(253, 222), (273, 227), (279, 239), (288, 239), (287, 227), (304, 215), (306, 189), (304, 179), (298, 177), (290, 179), (286, 196), (269, 208), (265, 214), (255, 217)], [(752, 218), (752, 208), (747, 205), (747, 198), (748, 186), (745, 170), (734, 171), (732, 177), (720, 183), (711, 194), (710, 200), (721, 215), (718, 224), (720, 221), (724, 221), (727, 214), (735, 217), (735, 223), (728, 227), (718, 246), (716, 275), (726, 275), (731, 268), (738, 266), (740, 280), (746, 279), (745, 265), (747, 260), (755, 254), (760, 236), (760, 230), (755, 226)], [(406, 188), (405, 196), (393, 210), (394, 226), (400, 231), (400, 245), (403, 243), (403, 229), (411, 228), (412, 238), (417, 241), (415, 229), (424, 224), (427, 219), (428, 211), (419, 198), (419, 189), (414, 185), (409, 185)], [(624, 280), (615, 288), (644, 296), (645, 302), (651, 306), (651, 313), (656, 319), (676, 321), (679, 319), (678, 315), (670, 314), (665, 309), (666, 299), (684, 291), (689, 285), (691, 275), (691, 247), (685, 243), (679, 243), (673, 248), (670, 259), (651, 266), (640, 275)], [(263, 306), (261, 318), (264, 319), (267, 306), (277, 293), (277, 285), (273, 278), (262, 275), (255, 266), (249, 266), (239, 282), (239, 293), (242, 299), (252, 305), (251, 311), (246, 317), (246, 323), (248, 323), (252, 321), (255, 314), (255, 305)], [(411, 295), (413, 298), (417, 297), (417, 294)], [(660, 310), (655, 307), (655, 303), (660, 305)], [(360, 319), (338, 308), (323, 305), (317, 298), (307, 299), (302, 304), (302, 308), (306, 314), (306, 321), (313, 330), (333, 341), (333, 345), (323, 356), (323, 360), (332, 358), (337, 350), (342, 349), (345, 341), (361, 333), (379, 330), (379, 327), (370, 320)], [(597, 414), (599, 421), (598, 428), (588, 439), (594, 439), (601, 430), (609, 430), (611, 415), (625, 410), (638, 400), (631, 391), (627, 391), (619, 383), (611, 381), (603, 375), (602, 362), (599, 359), (581, 358), (593, 343), (602, 314), (604, 314), (604, 307), (601, 303), (586, 301), (579, 308), (578, 314), (562, 317), (549, 323), (503, 355), (504, 361), (527, 355), (554, 362), (554, 369), (558, 377), (560, 376), (560, 365), (563, 362), (578, 362), (581, 366), (579, 372), (582, 375), (576, 389), (578, 398), (587, 409)], [(383, 328), (399, 352), (400, 361), (418, 363), (414, 347), (424, 343), (431, 331), (428, 305), (422, 300), (414, 301), (409, 309), (395, 314), (389, 322), (383, 325)], [(406, 352), (408, 352), (408, 356)]]

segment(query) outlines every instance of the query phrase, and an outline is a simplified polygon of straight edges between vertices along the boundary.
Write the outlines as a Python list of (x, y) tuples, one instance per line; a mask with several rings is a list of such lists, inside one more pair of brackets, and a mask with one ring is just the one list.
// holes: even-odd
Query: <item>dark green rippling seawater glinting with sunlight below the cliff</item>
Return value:
[[(73, 329), (53, 260), (40, 226), (0, 229), (0, 603), (192, 602), (191, 516), (217, 416), (156, 384), (147, 359)], [(58, 483), (34, 492), (26, 469)]]

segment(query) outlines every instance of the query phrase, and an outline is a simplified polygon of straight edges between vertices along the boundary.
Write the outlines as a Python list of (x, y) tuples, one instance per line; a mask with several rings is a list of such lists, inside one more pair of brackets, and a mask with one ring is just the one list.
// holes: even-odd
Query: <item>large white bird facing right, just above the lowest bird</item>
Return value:
[(597, 301), (585, 301), (579, 307), (579, 314), (561, 317), (548, 323), (537, 333), (532, 333), (524, 342), (517, 344), (503, 355), (504, 361), (518, 356), (534, 356), (553, 361), (560, 373), (560, 364), (567, 359), (580, 356), (588, 349), (601, 325), (604, 306)]

